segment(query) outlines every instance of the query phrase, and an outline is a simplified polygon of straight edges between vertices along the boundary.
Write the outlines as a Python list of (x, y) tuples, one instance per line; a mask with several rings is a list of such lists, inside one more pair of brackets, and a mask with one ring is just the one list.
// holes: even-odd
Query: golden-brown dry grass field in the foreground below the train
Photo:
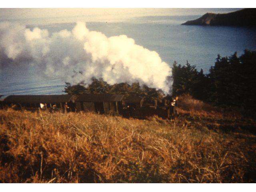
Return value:
[(180, 112), (128, 120), (0, 110), (0, 182), (256, 182), (253, 120)]

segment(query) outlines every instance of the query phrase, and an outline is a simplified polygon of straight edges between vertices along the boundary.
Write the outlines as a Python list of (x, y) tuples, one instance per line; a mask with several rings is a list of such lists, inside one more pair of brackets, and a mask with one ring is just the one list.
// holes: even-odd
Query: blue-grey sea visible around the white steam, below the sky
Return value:
[[(207, 74), (214, 66), (217, 55), (240, 56), (245, 49), (256, 50), (256, 28), (229, 26), (181, 25), (200, 16), (146, 16), (126, 22), (87, 22), (93, 31), (107, 37), (127, 35), (151, 51), (156, 51), (170, 67), (174, 61), (196, 65)], [(86, 21), (85, 21), (86, 22)], [(72, 30), (75, 23), (30, 25), (29, 28), (48, 29), (49, 33), (62, 29)], [(7, 66), (0, 69), (0, 95), (11, 94), (64, 94), (65, 82), (52, 76), (44, 78), (33, 67)]]

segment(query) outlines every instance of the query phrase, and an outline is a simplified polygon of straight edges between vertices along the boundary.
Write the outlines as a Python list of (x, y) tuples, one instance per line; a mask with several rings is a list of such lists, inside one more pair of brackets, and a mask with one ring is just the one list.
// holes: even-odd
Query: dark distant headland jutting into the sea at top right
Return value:
[(206, 13), (182, 25), (256, 26), (256, 8), (246, 8), (227, 14)]

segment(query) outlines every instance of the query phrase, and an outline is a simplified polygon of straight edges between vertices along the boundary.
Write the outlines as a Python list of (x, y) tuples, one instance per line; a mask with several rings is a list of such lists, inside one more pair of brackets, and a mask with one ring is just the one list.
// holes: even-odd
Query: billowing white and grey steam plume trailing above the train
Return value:
[(89, 31), (83, 22), (72, 31), (51, 35), (47, 29), (0, 23), (0, 65), (11, 63), (38, 67), (44, 75), (72, 84), (90, 84), (95, 77), (109, 84), (140, 82), (166, 93), (171, 87), (172, 71), (158, 53), (136, 45), (126, 35), (106, 37)]

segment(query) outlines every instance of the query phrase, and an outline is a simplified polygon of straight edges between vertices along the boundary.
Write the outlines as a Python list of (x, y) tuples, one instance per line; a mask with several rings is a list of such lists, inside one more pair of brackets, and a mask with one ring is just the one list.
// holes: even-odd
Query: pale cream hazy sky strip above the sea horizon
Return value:
[(198, 15), (204, 12), (230, 12), (236, 8), (6, 8), (1, 9), (1, 19), (50, 18), (67, 16), (154, 16)]

